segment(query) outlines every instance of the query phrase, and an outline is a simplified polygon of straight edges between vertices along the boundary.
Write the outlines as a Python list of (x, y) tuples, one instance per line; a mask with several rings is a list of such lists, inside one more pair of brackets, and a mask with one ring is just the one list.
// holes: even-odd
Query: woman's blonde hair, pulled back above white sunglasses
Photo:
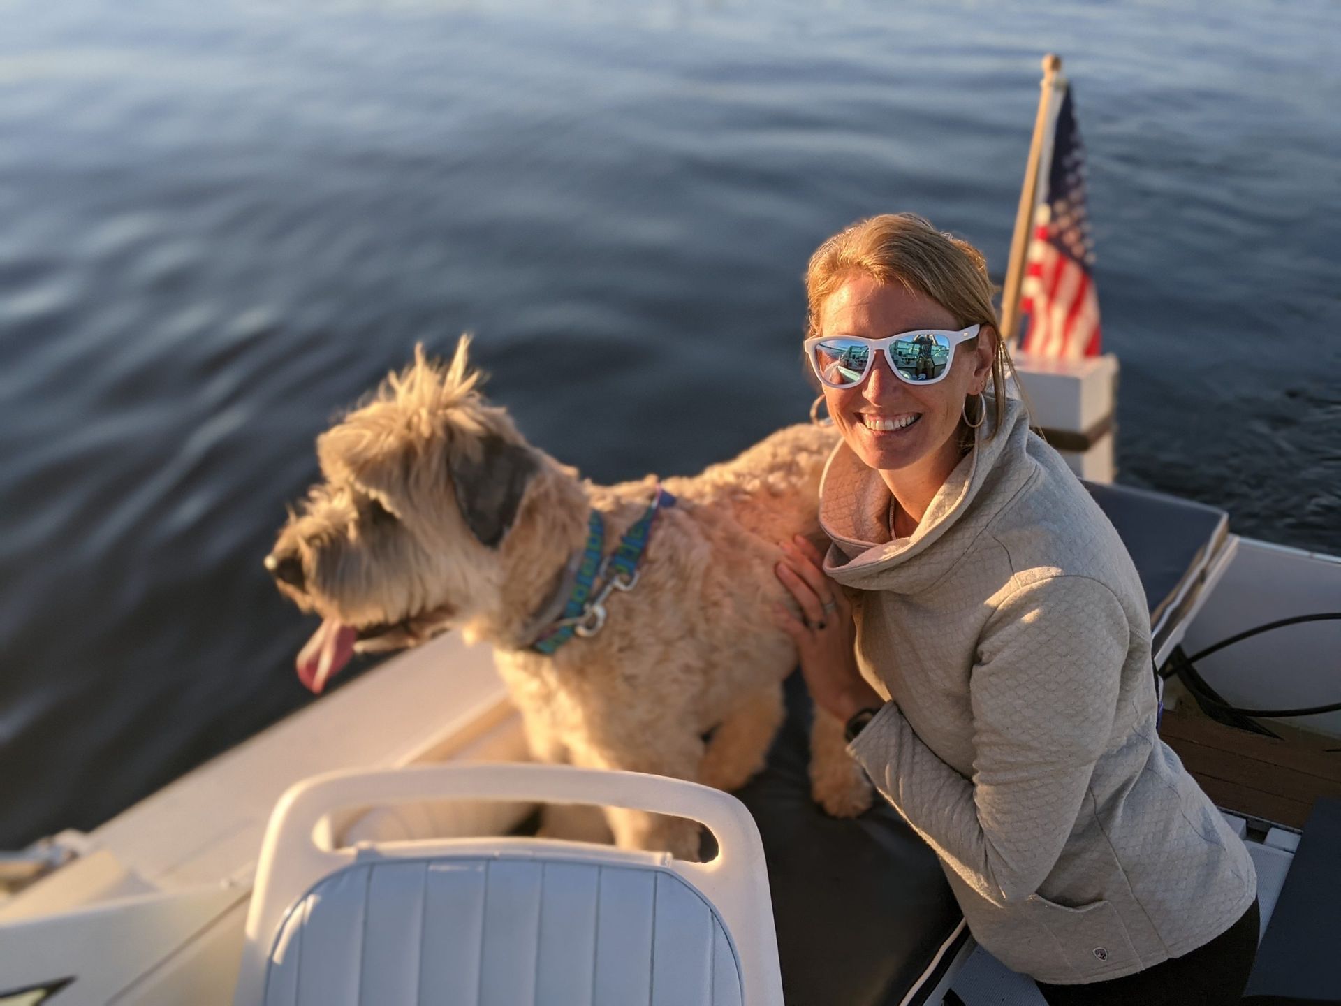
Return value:
[[(955, 315), (959, 325), (982, 325), (984, 331), (978, 334), (978, 339), (987, 335), (996, 341), (996, 358), (992, 361), (996, 421), (988, 439), (995, 436), (1006, 417), (1006, 374), (1015, 378), (1016, 388), (1021, 381), (1000, 337), (992, 307), (996, 291), (987, 275), (983, 254), (968, 241), (937, 231), (916, 213), (881, 213), (860, 220), (821, 244), (810, 256), (806, 268), (806, 338), (819, 334), (819, 313), (825, 300), (853, 272), (865, 272), (877, 283), (902, 283), (939, 303)], [(990, 335), (987, 329), (991, 329)], [(967, 408), (967, 401), (964, 404)]]

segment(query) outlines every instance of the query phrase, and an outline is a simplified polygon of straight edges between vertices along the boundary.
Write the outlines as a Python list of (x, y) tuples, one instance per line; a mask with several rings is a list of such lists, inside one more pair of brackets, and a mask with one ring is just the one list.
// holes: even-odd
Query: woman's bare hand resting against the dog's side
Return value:
[(815, 706), (841, 722), (860, 710), (884, 706), (885, 700), (857, 669), (852, 604), (842, 588), (823, 574), (823, 557), (801, 535), (782, 547), (786, 558), (776, 566), (778, 579), (797, 598), (805, 621), (779, 604), (772, 606), (772, 618), (797, 644), (801, 673)]

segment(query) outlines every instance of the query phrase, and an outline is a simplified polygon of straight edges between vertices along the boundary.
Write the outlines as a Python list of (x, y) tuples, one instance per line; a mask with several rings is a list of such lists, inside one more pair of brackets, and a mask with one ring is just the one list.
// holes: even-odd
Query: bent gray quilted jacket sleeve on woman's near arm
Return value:
[(1126, 614), (1104, 583), (1035, 581), (991, 616), (970, 677), (974, 777), (890, 702), (850, 744), (908, 824), (995, 904), (1034, 893), (1061, 856), (1112, 732)]

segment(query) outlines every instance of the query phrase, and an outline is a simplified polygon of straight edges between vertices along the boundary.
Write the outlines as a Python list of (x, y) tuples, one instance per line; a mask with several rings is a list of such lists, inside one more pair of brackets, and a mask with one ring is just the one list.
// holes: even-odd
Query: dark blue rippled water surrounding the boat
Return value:
[[(1004, 271), (1066, 58), (1120, 479), (1341, 553), (1341, 13), (0, 3), (0, 846), (310, 697), (260, 559), (312, 437), (476, 333), (599, 480), (806, 414), (801, 274), (913, 209)], [(716, 353), (738, 347), (743, 366)]]

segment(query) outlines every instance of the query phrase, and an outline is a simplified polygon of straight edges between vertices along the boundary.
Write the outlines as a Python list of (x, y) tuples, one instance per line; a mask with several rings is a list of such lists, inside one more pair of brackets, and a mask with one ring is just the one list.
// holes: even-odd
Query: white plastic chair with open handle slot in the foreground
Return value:
[[(542, 838), (322, 848), (342, 807), (498, 798), (633, 806), (716, 836), (711, 862)], [(782, 1006), (763, 849), (716, 790), (567, 766), (338, 773), (279, 803), (235, 1006)]]

